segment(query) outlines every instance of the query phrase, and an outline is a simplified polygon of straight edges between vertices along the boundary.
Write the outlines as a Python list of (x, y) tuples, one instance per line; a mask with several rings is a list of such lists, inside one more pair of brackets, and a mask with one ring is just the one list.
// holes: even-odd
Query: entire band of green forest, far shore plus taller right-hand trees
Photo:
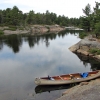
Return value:
[(26, 25), (54, 25), (60, 26), (75, 26), (84, 29), (87, 32), (92, 31), (98, 36), (100, 34), (100, 3), (95, 2), (93, 11), (91, 5), (87, 4), (84, 7), (83, 13), (85, 16), (79, 18), (68, 18), (64, 15), (59, 15), (49, 12), (35, 13), (31, 10), (28, 13), (23, 13), (17, 6), (0, 10), (0, 26), (26, 26)]

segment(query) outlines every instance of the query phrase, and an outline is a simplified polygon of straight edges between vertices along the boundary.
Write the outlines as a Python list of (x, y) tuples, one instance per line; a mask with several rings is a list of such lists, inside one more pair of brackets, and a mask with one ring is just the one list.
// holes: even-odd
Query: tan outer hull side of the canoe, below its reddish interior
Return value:
[(89, 81), (98, 77), (100, 77), (100, 71), (93, 76), (89, 76), (86, 78), (79, 78), (79, 79), (71, 79), (71, 80), (48, 80), (48, 79), (36, 78), (35, 84), (37, 85), (64, 85), (64, 84), (72, 84), (72, 83)]

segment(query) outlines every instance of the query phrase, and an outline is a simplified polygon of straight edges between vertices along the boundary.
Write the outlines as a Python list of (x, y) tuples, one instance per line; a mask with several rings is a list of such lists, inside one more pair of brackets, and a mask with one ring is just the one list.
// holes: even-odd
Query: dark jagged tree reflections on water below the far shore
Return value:
[(3, 45), (7, 45), (10, 47), (14, 53), (18, 53), (20, 51), (20, 47), (22, 46), (23, 40), (28, 42), (29, 47), (33, 48), (35, 45), (39, 45), (42, 41), (45, 43), (46, 47), (49, 47), (50, 40), (55, 40), (57, 36), (65, 36), (66, 31), (61, 31), (58, 34), (55, 33), (47, 33), (41, 36), (33, 36), (32, 34), (26, 35), (9, 35), (9, 36), (0, 36), (0, 50), (3, 48)]

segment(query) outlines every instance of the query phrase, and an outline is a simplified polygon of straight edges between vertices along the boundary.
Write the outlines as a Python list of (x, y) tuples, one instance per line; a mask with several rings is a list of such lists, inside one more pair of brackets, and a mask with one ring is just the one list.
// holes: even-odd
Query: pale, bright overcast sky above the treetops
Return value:
[(57, 15), (79, 18), (84, 15), (82, 9), (88, 3), (91, 8), (95, 7), (95, 1), (100, 2), (100, 0), (0, 0), (0, 9), (17, 6), (24, 13), (30, 10), (35, 11), (35, 13), (45, 13), (49, 10)]

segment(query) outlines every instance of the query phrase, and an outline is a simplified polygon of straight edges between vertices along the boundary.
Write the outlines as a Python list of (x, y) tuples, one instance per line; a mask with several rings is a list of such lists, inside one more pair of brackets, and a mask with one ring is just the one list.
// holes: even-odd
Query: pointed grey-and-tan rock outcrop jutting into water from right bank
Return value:
[(94, 55), (89, 52), (91, 48), (100, 49), (100, 39), (93, 38), (92, 35), (89, 35), (79, 41), (77, 44), (71, 46), (69, 50), (74, 53), (89, 56), (100, 61), (100, 55)]

